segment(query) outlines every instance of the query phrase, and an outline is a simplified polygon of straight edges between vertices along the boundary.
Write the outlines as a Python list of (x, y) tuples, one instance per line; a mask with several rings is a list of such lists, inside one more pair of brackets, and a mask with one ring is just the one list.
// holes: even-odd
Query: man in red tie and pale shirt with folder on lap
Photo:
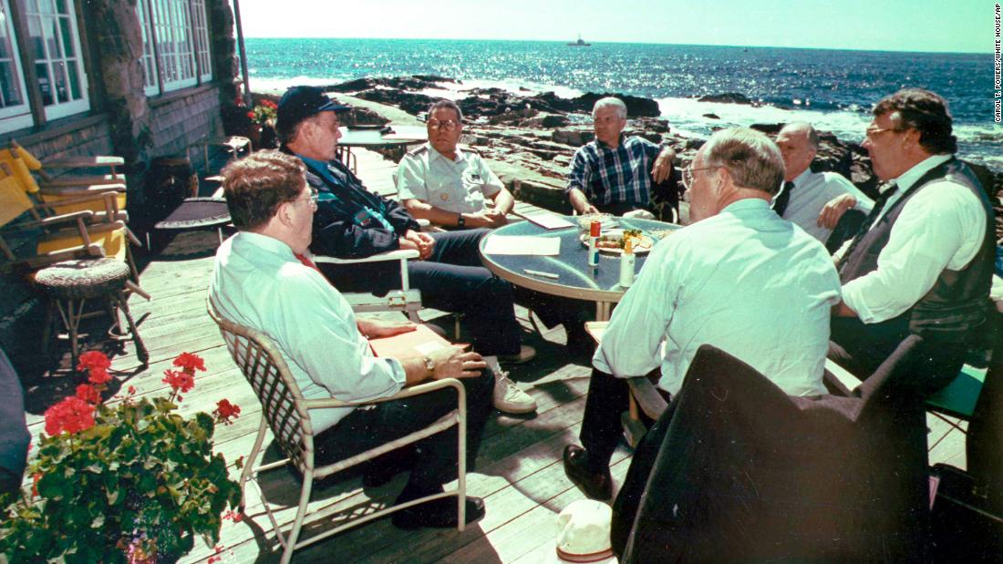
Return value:
[[(367, 338), (414, 330), (409, 322), (356, 319), (341, 294), (304, 256), (311, 241), (317, 192), (295, 156), (259, 151), (224, 169), (223, 187), (240, 232), (216, 254), (213, 304), (227, 319), (268, 335), (278, 345), (306, 399), (361, 402), (386, 398), (425, 380), (458, 378), (466, 390), (467, 465), (473, 468), (490, 411), (494, 377), (476, 353), (449, 347), (421, 358), (374, 356)], [(330, 464), (427, 427), (455, 409), (448, 390), (367, 406), (312, 410), (318, 464)], [(456, 478), (454, 431), (418, 443), (398, 503), (442, 491)], [(466, 517), (483, 515), (467, 497)], [(455, 527), (456, 502), (439, 498), (394, 513), (401, 528)]]

